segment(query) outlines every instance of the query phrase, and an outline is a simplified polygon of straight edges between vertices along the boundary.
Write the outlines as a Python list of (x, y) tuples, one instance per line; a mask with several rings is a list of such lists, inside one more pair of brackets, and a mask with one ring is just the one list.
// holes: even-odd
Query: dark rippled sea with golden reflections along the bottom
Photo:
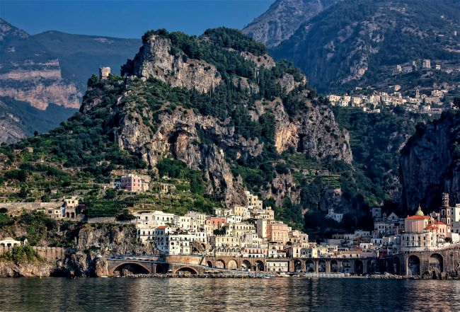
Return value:
[(460, 281), (0, 279), (0, 311), (460, 311)]

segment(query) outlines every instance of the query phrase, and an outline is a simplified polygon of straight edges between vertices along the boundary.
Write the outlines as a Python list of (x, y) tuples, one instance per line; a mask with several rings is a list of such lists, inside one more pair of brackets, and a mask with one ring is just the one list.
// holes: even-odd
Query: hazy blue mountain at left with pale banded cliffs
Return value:
[[(140, 40), (134, 39), (56, 31), (28, 35), (0, 18), (0, 114), (6, 116), (8, 111), (14, 116), (2, 120), (4, 127), (21, 129), (9, 137), (2, 135), (0, 142), (17, 139), (19, 133), (46, 132), (59, 125), (79, 109), (88, 77), (102, 66), (119, 73), (121, 64), (137, 52), (139, 44)], [(9, 109), (11, 103), (22, 103), (21, 107), (28, 103), (30, 108), (18, 112)], [(13, 125), (11, 120), (20, 122)]]

